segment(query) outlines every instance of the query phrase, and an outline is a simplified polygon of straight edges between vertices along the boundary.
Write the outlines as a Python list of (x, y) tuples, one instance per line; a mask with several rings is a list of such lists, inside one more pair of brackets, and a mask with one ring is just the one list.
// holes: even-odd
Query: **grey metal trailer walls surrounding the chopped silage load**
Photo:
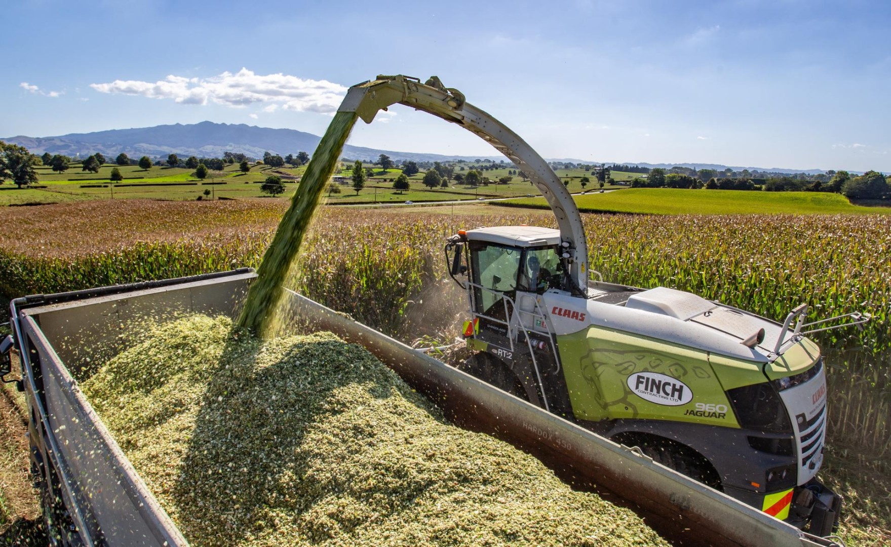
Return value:
[[(147, 315), (236, 316), (250, 269), (12, 300), (0, 372), (24, 391), (30, 460), (53, 545), (187, 545), (78, 388)], [(368, 348), (462, 428), (535, 455), (572, 486), (638, 511), (678, 545), (837, 545), (288, 291), (314, 330)], [(12, 356), (12, 359), (9, 357)], [(15, 364), (15, 372), (10, 371)], [(93, 364), (91, 364), (93, 363)], [(20, 373), (20, 377), (18, 377)], [(12, 378), (16, 376), (17, 378)], [(7, 378), (9, 377), (9, 378)]]

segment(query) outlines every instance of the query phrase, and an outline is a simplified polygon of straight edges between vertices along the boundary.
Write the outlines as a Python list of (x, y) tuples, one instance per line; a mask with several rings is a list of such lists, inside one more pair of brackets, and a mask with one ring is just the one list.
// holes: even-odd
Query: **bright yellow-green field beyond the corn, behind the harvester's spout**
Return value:
[[(740, 192), (734, 190), (629, 188), (622, 192), (595, 192), (576, 196), (576, 204), (582, 212), (587, 213), (652, 215), (834, 215), (837, 213), (875, 215), (891, 213), (891, 208), (855, 206), (840, 194), (826, 192)], [(499, 205), (548, 208), (542, 198), (501, 201)]]

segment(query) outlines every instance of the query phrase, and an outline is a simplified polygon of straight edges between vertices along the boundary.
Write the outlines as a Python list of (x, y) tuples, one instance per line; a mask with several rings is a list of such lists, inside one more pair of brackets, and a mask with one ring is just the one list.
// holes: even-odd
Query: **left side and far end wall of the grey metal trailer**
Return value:
[(21, 355), (26, 392), (32, 415), (44, 424), (35, 430), (44, 432), (44, 459), (54, 470), (48, 475), (60, 479), (56, 489), (84, 544), (188, 545), (65, 363), (77, 371), (87, 361), (101, 363), (121, 349), (119, 334), (127, 323), (145, 317), (234, 314), (254, 277), (233, 274), (21, 311), (17, 323), (29, 345)]

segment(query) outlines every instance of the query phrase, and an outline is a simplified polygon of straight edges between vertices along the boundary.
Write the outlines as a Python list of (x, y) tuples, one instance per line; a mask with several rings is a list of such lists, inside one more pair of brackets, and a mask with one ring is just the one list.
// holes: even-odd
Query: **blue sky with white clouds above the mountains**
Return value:
[[(887, 1), (20, 0), (3, 12), (4, 136), (205, 119), (321, 135), (346, 86), (435, 74), (547, 158), (891, 171)], [(350, 143), (493, 155), (391, 110)]]

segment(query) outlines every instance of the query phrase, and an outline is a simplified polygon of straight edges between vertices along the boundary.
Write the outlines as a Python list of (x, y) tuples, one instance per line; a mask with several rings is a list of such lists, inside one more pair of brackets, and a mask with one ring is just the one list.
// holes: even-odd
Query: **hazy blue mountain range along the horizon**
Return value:
[[(172, 126), (137, 127), (134, 129), (110, 129), (94, 133), (71, 133), (69, 135), (29, 137), (18, 135), (0, 138), (6, 143), (24, 146), (32, 153), (64, 154), (86, 158), (95, 152), (112, 159), (120, 152), (131, 158), (149, 156), (166, 159), (168, 154), (178, 156), (198, 156), (205, 158), (222, 157), (223, 152), (241, 152), (254, 158), (262, 158), (266, 151), (274, 154), (296, 154), (298, 151), (312, 153), (321, 137), (295, 129), (272, 129), (269, 127), (248, 126), (245, 124), (217, 124), (202, 121), (198, 124), (175, 124)], [(503, 156), (446, 156), (419, 152), (377, 150), (347, 144), (343, 156), (350, 159), (378, 159), (387, 154), (391, 159), (411, 159), (413, 161), (445, 161), (448, 159), (504, 159)], [(594, 163), (590, 159), (549, 159), (550, 161), (571, 161), (573, 163)], [(697, 169), (723, 170), (727, 166), (713, 163), (641, 163), (634, 161), (599, 161), (611, 165), (637, 165), (641, 167), (695, 167)], [(789, 169), (781, 167), (731, 167), (734, 171), (767, 171), (774, 173), (823, 173), (820, 169)]]

